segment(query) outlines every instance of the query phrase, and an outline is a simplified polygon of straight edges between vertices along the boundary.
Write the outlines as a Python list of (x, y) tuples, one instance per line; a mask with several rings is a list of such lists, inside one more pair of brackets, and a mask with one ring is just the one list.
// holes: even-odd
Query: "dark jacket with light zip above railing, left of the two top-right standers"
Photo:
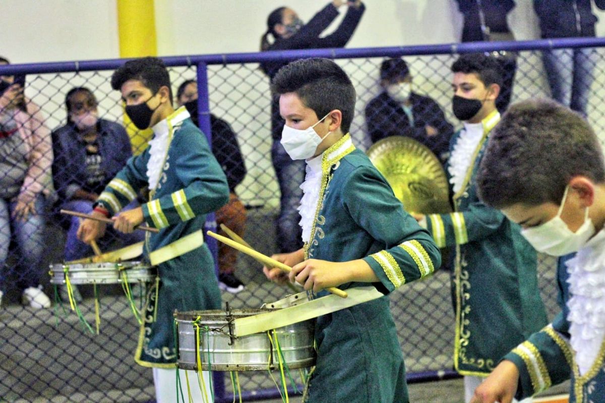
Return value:
[[(460, 13), (464, 15), (462, 42), (486, 40), (481, 30), (479, 5), (477, 0), (456, 0)], [(510, 29), (506, 15), (515, 7), (513, 0), (482, 0), (481, 2), (485, 25), (490, 32), (508, 33)]]

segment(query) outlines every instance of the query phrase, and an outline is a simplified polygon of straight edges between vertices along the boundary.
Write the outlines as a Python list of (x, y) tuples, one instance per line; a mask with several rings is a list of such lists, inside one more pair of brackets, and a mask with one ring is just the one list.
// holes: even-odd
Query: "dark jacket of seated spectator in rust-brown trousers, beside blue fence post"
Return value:
[(235, 186), (240, 184), (246, 176), (246, 165), (241, 156), (235, 132), (229, 126), (229, 123), (213, 114), (210, 115), (210, 124), (212, 128), (212, 153), (227, 176), (229, 192), (235, 193)]

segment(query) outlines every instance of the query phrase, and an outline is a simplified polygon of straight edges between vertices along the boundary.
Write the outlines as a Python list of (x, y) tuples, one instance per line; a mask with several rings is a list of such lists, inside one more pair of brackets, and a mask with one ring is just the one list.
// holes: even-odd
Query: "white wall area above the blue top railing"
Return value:
[[(266, 16), (284, 4), (288, 2), (155, 0), (159, 54), (257, 51)], [(327, 1), (290, 4), (308, 21)], [(2, 0), (0, 15), (0, 55), (15, 63), (119, 57), (115, 0)], [(530, 0), (517, 0), (509, 21), (518, 39), (537, 38)], [(348, 47), (455, 42), (460, 22), (453, 0), (367, 0)], [(605, 18), (598, 32), (605, 32)]]

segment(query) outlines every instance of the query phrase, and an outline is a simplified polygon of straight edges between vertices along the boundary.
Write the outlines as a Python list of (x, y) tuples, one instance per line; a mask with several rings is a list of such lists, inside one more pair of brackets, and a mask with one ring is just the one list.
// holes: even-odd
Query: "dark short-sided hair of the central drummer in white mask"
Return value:
[(332, 60), (301, 59), (284, 66), (273, 77), (271, 91), (275, 96), (295, 92), (319, 119), (338, 109), (342, 112), (341, 131), (348, 133), (355, 114), (355, 88)]

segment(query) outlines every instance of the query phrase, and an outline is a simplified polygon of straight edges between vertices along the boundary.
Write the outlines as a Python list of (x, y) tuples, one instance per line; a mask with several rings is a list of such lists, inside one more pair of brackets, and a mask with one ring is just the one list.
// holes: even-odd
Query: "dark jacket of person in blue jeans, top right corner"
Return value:
[[(592, 0), (534, 0), (540, 18), (543, 38), (595, 36), (597, 16), (592, 13)], [(594, 0), (605, 10), (605, 0)]]

